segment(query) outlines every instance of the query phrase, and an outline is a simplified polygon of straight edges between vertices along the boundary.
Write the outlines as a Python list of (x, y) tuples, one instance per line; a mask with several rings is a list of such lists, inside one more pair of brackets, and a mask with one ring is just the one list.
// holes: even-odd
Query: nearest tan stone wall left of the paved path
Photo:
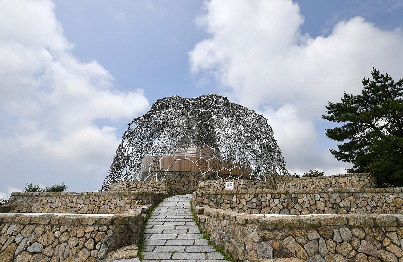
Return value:
[(142, 224), (141, 208), (112, 216), (0, 214), (0, 260), (106, 261), (139, 243)]

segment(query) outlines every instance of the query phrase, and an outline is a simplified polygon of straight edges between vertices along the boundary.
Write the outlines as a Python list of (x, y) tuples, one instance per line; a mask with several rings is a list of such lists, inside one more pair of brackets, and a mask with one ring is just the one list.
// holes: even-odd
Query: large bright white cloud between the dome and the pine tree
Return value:
[(402, 30), (354, 17), (312, 38), (301, 33), (304, 17), (288, 0), (212, 0), (205, 9), (196, 22), (211, 37), (189, 52), (192, 72), (215, 76), (227, 96), (262, 111), (291, 171), (348, 167), (318, 150), (324, 105), (358, 93), (372, 67), (400, 78)]

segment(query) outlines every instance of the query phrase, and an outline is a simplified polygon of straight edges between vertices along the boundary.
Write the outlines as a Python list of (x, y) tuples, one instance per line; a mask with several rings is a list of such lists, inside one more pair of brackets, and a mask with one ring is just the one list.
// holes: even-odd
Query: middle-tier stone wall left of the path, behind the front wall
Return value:
[(35, 192), (12, 193), (10, 212), (121, 214), (142, 205), (155, 205), (167, 197), (156, 192)]

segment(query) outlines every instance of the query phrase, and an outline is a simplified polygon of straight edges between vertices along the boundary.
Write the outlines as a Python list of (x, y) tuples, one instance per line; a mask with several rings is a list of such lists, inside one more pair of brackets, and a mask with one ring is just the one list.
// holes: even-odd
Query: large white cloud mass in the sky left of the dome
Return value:
[(113, 125), (149, 105), (143, 90), (120, 91), (97, 61), (74, 57), (53, 9), (47, 0), (0, 3), (0, 162), (8, 162), (1, 170), (4, 186), (13, 179), (52, 183), (44, 181), (52, 177), (50, 170), (69, 175), (66, 183), (83, 181), (85, 174), (99, 180), (120, 140)]

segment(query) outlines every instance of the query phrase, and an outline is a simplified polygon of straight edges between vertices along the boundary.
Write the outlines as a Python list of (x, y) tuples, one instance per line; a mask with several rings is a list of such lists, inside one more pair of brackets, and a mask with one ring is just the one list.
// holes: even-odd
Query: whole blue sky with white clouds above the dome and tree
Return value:
[(100, 189), (127, 124), (216, 93), (263, 114), (290, 173), (345, 173), (321, 118), (372, 68), (403, 77), (403, 1), (0, 2), (0, 199)]

